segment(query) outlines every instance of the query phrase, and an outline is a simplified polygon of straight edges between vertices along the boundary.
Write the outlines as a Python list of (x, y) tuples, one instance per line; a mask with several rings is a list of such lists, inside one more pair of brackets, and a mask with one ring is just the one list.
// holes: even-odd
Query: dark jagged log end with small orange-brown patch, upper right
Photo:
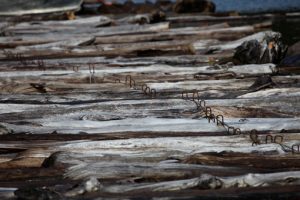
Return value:
[(280, 33), (270, 32), (261, 42), (256, 39), (245, 41), (235, 50), (235, 64), (278, 64), (285, 57), (287, 46), (282, 43)]

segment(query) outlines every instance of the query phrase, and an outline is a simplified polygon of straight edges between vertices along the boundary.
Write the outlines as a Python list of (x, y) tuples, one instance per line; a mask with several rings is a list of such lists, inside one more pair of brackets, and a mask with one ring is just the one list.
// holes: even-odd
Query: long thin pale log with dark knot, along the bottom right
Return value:
[(200, 188), (200, 189), (218, 189), (218, 188), (230, 188), (230, 187), (258, 187), (264, 185), (278, 185), (286, 184), (286, 180), (292, 176), (295, 179), (288, 185), (299, 185), (299, 172), (285, 172), (285, 173), (273, 173), (273, 174), (249, 174), (238, 177), (219, 178), (213, 177), (208, 174), (204, 174), (199, 178), (169, 181), (156, 184), (149, 184), (144, 186), (112, 186), (105, 188), (110, 193), (122, 193), (136, 190), (151, 190), (151, 191), (176, 191), (184, 190), (188, 188)]

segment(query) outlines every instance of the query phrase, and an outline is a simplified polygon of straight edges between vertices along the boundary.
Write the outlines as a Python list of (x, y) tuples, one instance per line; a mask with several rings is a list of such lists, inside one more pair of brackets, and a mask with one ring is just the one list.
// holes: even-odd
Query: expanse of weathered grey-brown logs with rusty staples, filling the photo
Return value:
[(299, 199), (299, 70), (217, 64), (270, 23), (126, 19), (0, 23), (0, 197)]

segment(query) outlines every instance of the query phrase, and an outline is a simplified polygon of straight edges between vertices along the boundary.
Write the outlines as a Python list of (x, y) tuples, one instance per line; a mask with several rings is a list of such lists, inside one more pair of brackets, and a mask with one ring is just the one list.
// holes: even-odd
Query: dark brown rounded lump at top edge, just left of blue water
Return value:
[(205, 0), (177, 0), (173, 11), (176, 13), (215, 12), (214, 3)]

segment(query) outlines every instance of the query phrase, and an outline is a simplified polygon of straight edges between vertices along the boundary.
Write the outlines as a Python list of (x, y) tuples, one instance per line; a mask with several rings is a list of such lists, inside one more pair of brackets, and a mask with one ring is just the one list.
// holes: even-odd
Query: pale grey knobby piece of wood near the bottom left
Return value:
[(96, 192), (100, 190), (101, 187), (102, 185), (100, 184), (98, 179), (95, 177), (91, 177), (83, 181), (81, 184), (74, 186), (74, 188), (71, 189), (70, 191), (67, 191), (65, 193), (65, 196), (74, 197), (85, 193)]

